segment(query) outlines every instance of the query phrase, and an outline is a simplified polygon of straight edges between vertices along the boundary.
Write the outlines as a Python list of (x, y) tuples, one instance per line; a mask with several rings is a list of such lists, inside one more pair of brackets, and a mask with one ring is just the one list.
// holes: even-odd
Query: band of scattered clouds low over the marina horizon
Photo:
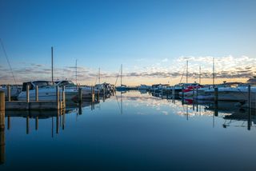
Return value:
[[(123, 71), (123, 79), (132, 79), (134, 82), (146, 82), (150, 78), (162, 78), (170, 80), (172, 78), (183, 78), (186, 76), (186, 61), (188, 65), (189, 78), (198, 78), (199, 67), (201, 67), (201, 78), (212, 78), (213, 76), (213, 58), (215, 64), (215, 78), (252, 78), (256, 74), (256, 58), (247, 56), (234, 57), (232, 55), (226, 57), (194, 57), (182, 56), (171, 60), (169, 58), (159, 59), (158, 62), (150, 66), (134, 66), (132, 70)], [(142, 62), (145, 59), (138, 59)], [(78, 82), (81, 84), (94, 85), (98, 82), (98, 70), (87, 68), (86, 66), (64, 66), (54, 67), (55, 80), (68, 79), (75, 81), (77, 70)], [(120, 71), (120, 70), (119, 70)], [(23, 62), (19, 68), (13, 68), (14, 76), (18, 83), (32, 80), (50, 80), (50, 66), (42, 64)], [(110, 82), (114, 84), (118, 78), (117, 72), (102, 70), (100, 77), (102, 82)], [(13, 83), (10, 70), (5, 66), (0, 66), (1, 84)], [(130, 82), (131, 85), (134, 82)], [(182, 80), (185, 82), (185, 79)], [(177, 82), (176, 82), (177, 83)]]

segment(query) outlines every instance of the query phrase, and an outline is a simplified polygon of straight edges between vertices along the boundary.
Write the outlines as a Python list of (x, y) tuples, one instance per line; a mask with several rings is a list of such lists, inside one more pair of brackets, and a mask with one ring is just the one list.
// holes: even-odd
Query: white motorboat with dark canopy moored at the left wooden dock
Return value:
[[(26, 86), (30, 85), (30, 99), (34, 100), (35, 87), (38, 85), (38, 100), (42, 101), (54, 101), (57, 99), (56, 96), (56, 85), (53, 85), (52, 82), (47, 81), (35, 81), (35, 82), (24, 82), (22, 86), (22, 92), (18, 95), (18, 101), (26, 101)], [(62, 89), (60, 87), (60, 93)], [(65, 89), (66, 101), (71, 101), (78, 94), (77, 89), (68, 88)]]

